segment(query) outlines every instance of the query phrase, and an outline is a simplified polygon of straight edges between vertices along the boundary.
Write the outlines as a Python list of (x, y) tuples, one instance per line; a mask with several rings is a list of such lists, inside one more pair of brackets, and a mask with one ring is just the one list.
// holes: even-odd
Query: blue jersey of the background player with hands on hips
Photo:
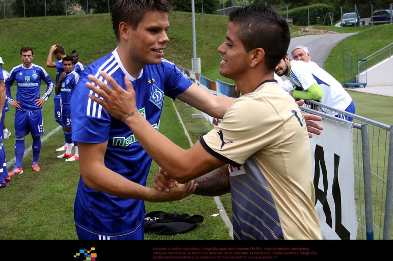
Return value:
[(12, 68), (9, 78), (6, 81), (7, 101), (13, 102), (11, 96), (11, 86), (17, 81), (17, 101), (20, 102), (22, 110), (34, 111), (41, 107), (35, 105), (35, 99), (40, 98), (41, 80), (48, 85), (42, 98), (48, 100), (53, 91), (53, 82), (49, 74), (41, 66), (31, 64), (30, 68), (23, 67), (22, 64)]

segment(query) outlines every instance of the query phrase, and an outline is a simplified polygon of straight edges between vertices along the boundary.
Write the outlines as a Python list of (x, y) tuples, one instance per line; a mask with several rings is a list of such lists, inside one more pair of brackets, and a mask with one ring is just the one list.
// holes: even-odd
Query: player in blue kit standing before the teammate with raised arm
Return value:
[(55, 93), (61, 95), (62, 100), (62, 123), (64, 138), (66, 140), (66, 152), (57, 156), (57, 158), (66, 158), (66, 161), (79, 160), (78, 145), (75, 142), (75, 155), (72, 155), (72, 129), (71, 129), (71, 97), (75, 86), (79, 80), (79, 74), (73, 71), (72, 58), (70, 56), (63, 57), (62, 60), (64, 72), (59, 77), (56, 84)]

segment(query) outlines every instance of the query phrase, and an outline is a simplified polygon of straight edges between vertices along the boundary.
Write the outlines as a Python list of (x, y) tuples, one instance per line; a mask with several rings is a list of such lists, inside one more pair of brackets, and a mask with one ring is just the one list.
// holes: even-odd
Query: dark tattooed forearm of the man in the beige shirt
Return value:
[(198, 183), (194, 194), (202, 196), (220, 196), (231, 192), (228, 165), (224, 165), (218, 169), (196, 178)]

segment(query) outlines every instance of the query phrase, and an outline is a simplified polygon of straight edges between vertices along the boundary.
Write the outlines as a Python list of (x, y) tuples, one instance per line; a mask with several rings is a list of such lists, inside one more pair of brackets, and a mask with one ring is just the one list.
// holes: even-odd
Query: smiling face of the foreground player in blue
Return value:
[(136, 30), (129, 26), (127, 42), (130, 59), (144, 65), (160, 64), (169, 41), (168, 28), (168, 14), (155, 10), (143, 15)]

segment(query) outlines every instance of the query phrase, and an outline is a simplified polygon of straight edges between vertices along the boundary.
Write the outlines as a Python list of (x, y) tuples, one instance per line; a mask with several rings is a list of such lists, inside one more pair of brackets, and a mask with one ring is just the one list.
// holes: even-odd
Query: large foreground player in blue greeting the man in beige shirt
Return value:
[(106, 72), (123, 89), (128, 78), (138, 111), (156, 130), (164, 94), (215, 118), (222, 118), (234, 101), (209, 94), (163, 59), (170, 11), (167, 0), (118, 0), (112, 8), (118, 47), (86, 68), (73, 93), (72, 136), (79, 145), (81, 171), (74, 205), (79, 239), (143, 239), (143, 200), (176, 200), (196, 188), (193, 181), (174, 184), (168, 193), (145, 187), (151, 157), (123, 121), (88, 97), (94, 94), (85, 87), (91, 83), (89, 74), (107, 83), (99, 74)]

